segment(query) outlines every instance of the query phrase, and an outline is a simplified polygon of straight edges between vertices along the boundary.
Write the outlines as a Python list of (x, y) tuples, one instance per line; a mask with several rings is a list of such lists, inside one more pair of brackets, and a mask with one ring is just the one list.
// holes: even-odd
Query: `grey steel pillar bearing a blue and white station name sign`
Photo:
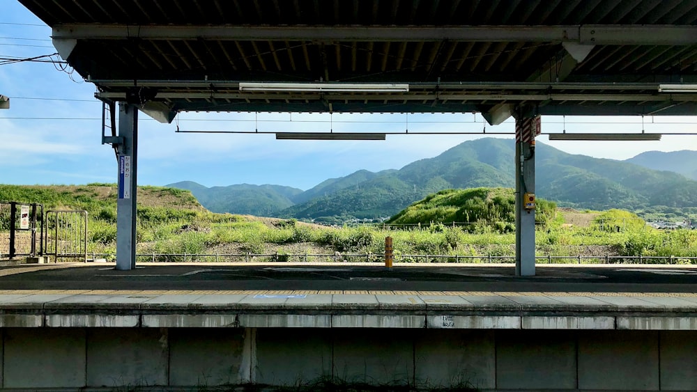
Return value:
[(118, 105), (118, 200), (116, 201), (116, 269), (135, 269), (138, 109)]

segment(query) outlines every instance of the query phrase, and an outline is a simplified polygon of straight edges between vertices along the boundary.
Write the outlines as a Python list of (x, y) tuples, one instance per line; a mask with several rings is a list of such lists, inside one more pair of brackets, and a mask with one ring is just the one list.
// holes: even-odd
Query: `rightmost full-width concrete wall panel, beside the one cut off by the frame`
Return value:
[(656, 391), (657, 331), (579, 331), (579, 388)]

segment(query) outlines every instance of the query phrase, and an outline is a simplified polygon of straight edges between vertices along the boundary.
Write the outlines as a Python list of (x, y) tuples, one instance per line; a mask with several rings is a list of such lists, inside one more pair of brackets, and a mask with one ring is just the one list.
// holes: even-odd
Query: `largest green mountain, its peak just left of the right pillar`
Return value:
[[(438, 157), (421, 159), (398, 171), (352, 182), (351, 189), (293, 205), (279, 216), (386, 217), (443, 189), (514, 187), (514, 148), (510, 139), (466, 141)], [(605, 210), (697, 205), (697, 182), (677, 173), (572, 155), (544, 143), (537, 143), (535, 159), (537, 196), (563, 206)]]

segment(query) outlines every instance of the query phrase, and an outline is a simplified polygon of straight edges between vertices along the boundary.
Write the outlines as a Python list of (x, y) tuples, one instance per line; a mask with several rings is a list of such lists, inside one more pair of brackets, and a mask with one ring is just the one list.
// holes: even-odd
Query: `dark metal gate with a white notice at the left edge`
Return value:
[(41, 204), (0, 201), (0, 259), (43, 255), (42, 217)]

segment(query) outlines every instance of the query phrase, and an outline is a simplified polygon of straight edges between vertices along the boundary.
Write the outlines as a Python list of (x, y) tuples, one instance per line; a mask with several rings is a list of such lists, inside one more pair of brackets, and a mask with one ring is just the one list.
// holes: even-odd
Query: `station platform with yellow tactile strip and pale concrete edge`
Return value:
[(0, 327), (697, 329), (697, 268), (20, 265)]

